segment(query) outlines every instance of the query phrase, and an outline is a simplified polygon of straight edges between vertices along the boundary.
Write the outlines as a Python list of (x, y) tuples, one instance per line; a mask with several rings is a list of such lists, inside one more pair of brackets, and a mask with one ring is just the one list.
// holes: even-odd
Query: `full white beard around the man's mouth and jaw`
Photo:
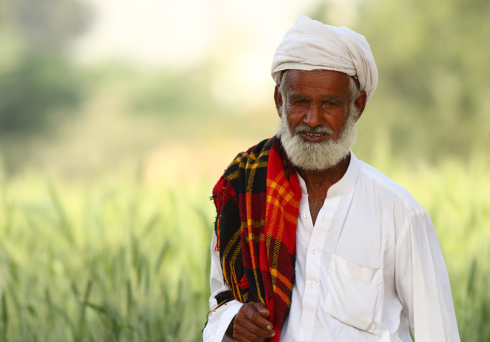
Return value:
[(355, 105), (350, 108), (341, 137), (337, 140), (329, 139), (321, 142), (306, 141), (298, 132), (307, 129), (311, 132), (317, 131), (333, 136), (332, 128), (326, 126), (311, 128), (307, 125), (298, 125), (295, 127), (295, 134), (293, 135), (289, 128), (284, 107), (281, 108), (281, 112), (281, 119), (276, 127), (276, 135), (281, 138), (282, 146), (286, 150), (288, 158), (297, 168), (306, 171), (324, 171), (331, 168), (349, 155), (351, 147), (357, 141), (355, 119), (358, 110)]

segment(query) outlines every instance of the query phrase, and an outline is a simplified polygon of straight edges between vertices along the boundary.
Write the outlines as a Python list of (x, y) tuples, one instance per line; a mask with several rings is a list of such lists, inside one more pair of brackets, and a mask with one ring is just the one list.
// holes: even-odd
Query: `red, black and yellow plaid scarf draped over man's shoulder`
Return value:
[(296, 223), (301, 188), (281, 141), (272, 137), (237, 155), (213, 189), (217, 209), (216, 251), (229, 291), (218, 304), (236, 299), (261, 302), (270, 311), (275, 336), (291, 307)]

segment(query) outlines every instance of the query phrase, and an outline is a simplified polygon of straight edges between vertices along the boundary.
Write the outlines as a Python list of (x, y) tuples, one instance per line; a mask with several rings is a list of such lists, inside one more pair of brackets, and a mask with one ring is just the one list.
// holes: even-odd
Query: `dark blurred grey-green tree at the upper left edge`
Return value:
[[(15, 171), (29, 137), (73, 114), (82, 83), (70, 63), (73, 39), (89, 24), (76, 0), (0, 2), (0, 143), (4, 167)], [(11, 147), (16, 148), (12, 149)]]

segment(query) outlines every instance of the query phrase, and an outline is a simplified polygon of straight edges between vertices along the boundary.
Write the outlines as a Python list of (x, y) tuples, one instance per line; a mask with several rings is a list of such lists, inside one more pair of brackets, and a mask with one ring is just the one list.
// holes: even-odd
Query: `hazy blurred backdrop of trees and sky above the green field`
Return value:
[(206, 163), (221, 171), (237, 151), (273, 134), (270, 63), (302, 13), (347, 25), (371, 45), (379, 84), (359, 122), (361, 159), (374, 162), (386, 150), (408, 164), (467, 160), (489, 151), (488, 7), (476, 0), (5, 0), (3, 166), (9, 175), (35, 168), (78, 178), (142, 163), (160, 178), (190, 153), (223, 158)]

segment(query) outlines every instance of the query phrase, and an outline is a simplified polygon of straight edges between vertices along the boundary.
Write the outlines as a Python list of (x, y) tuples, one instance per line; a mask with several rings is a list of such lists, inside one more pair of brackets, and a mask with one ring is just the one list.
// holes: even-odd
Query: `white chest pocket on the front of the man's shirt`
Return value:
[(328, 266), (327, 315), (370, 331), (383, 286), (383, 269), (370, 269), (333, 254)]

